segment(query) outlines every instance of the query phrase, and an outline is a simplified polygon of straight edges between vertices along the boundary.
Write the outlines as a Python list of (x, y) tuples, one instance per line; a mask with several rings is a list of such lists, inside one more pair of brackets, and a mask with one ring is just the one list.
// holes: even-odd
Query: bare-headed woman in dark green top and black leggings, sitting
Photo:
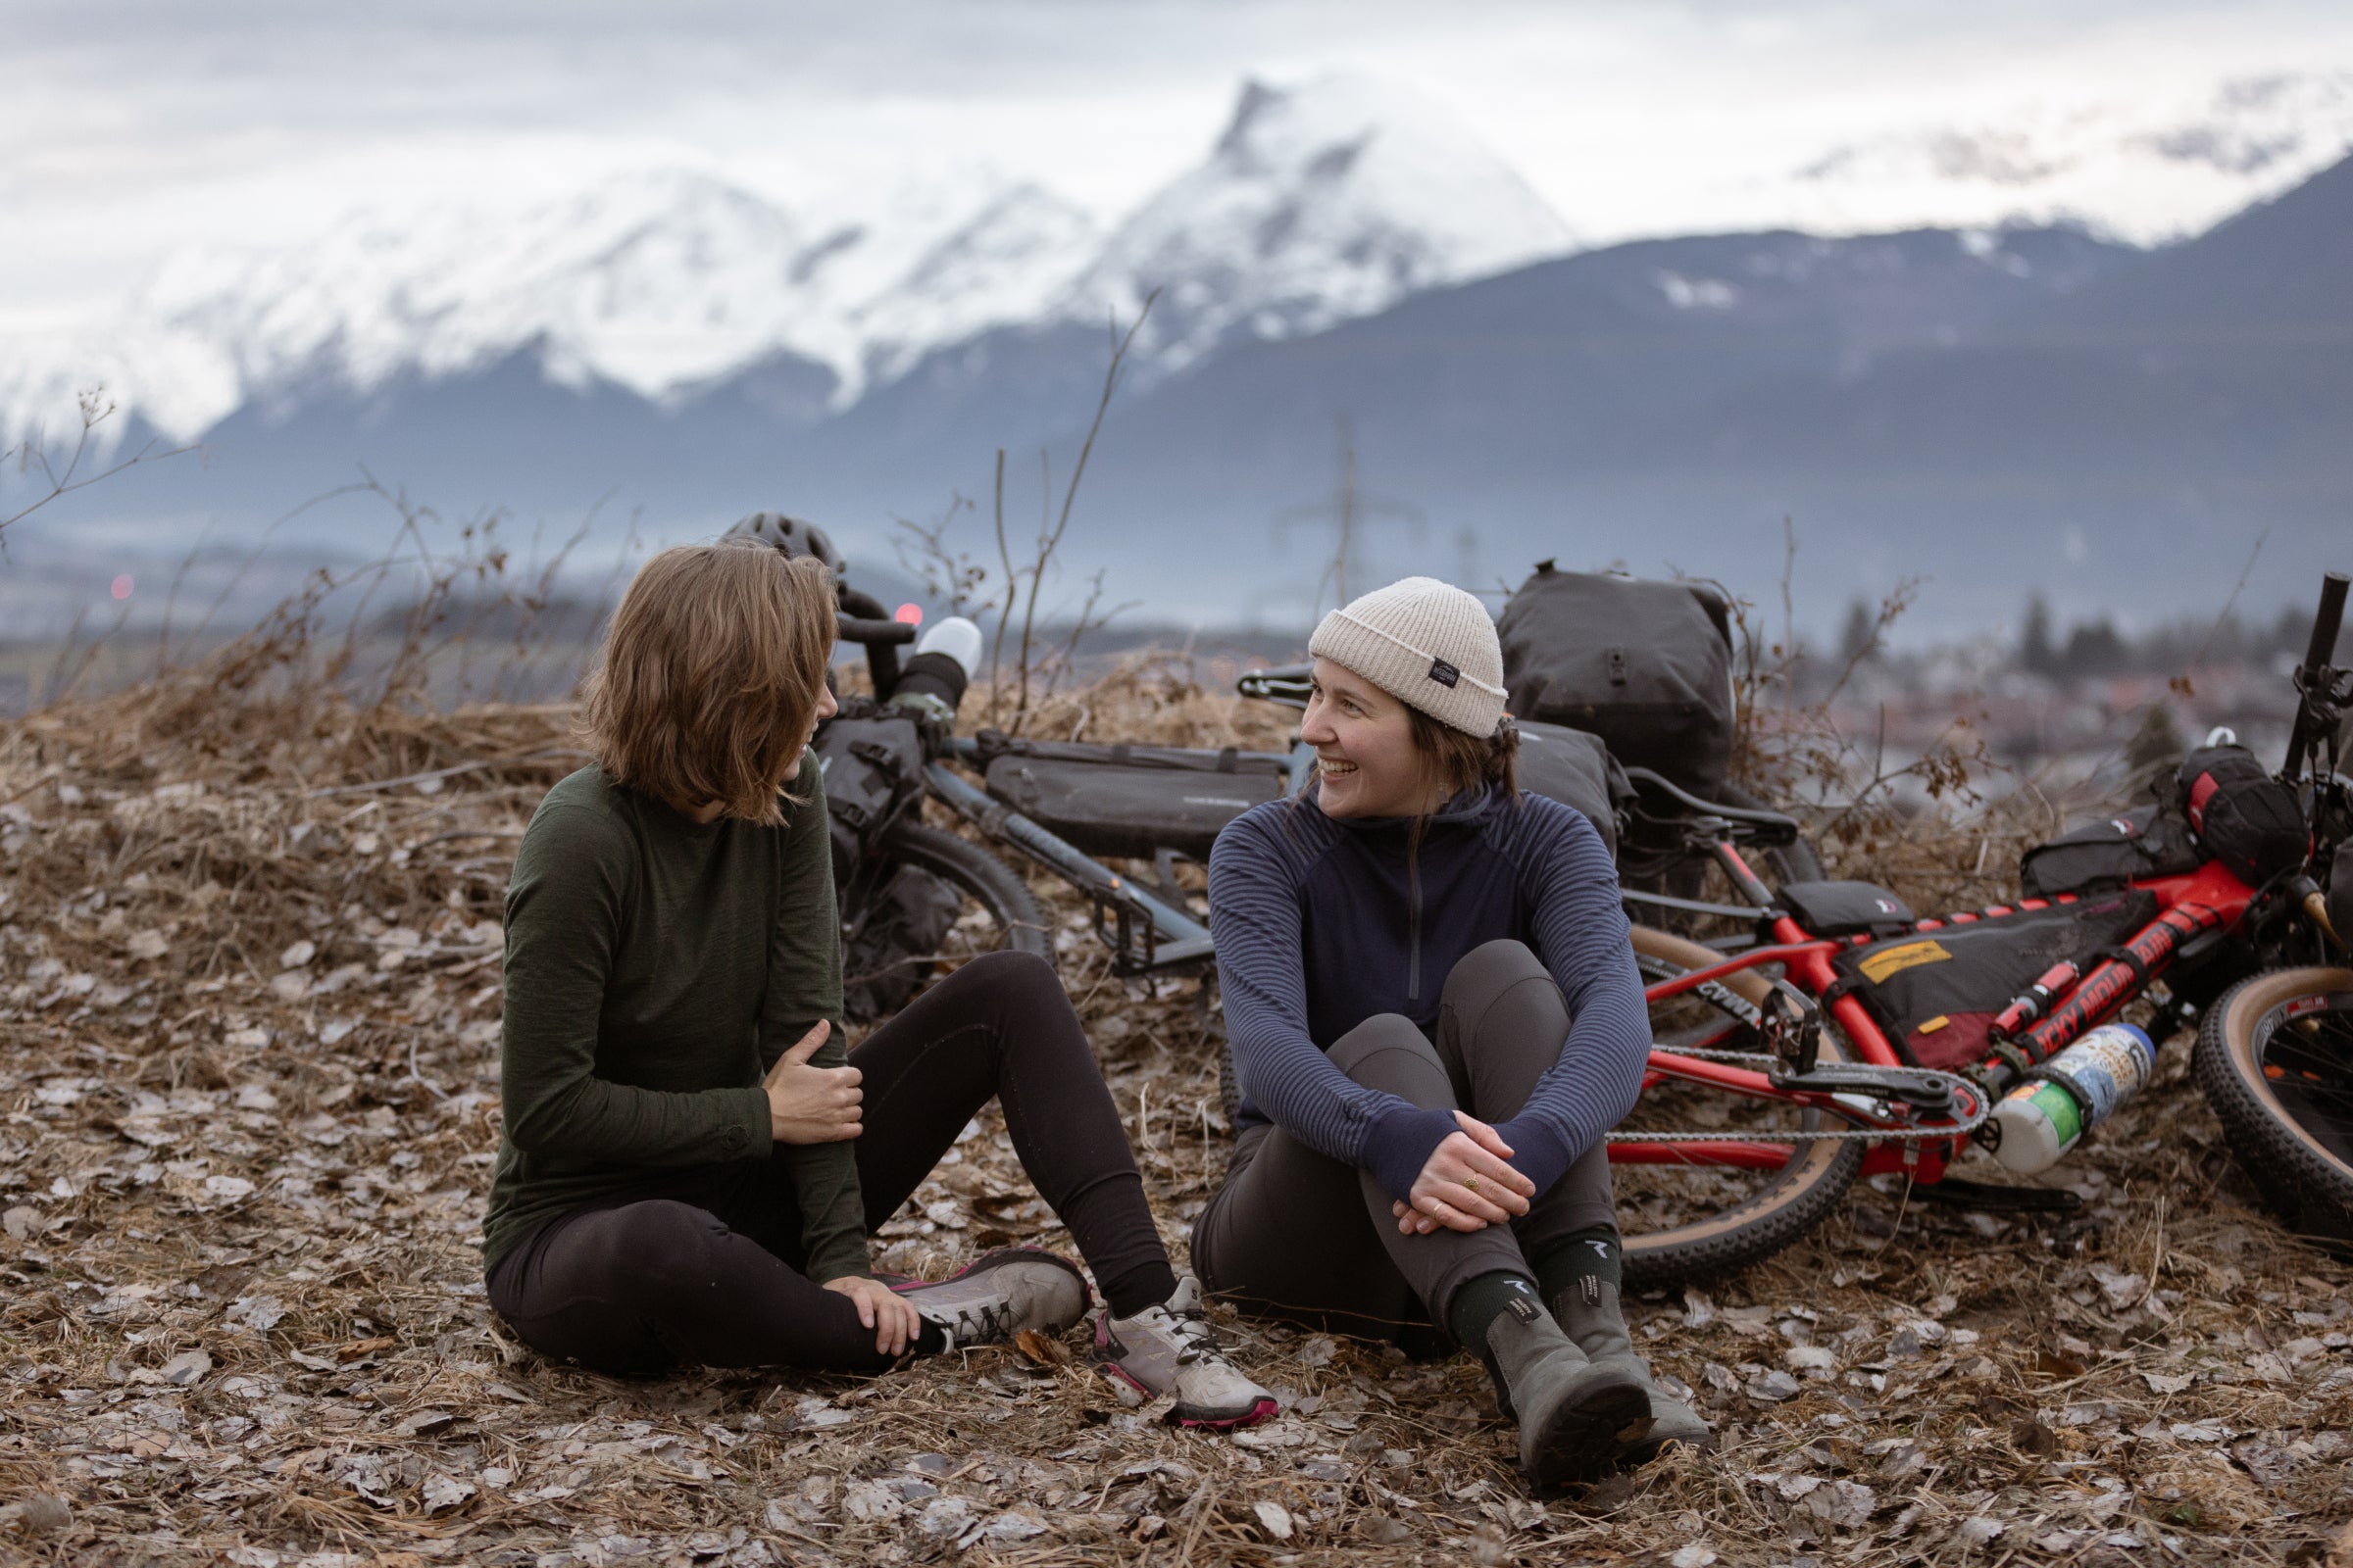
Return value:
[[(1096, 1354), (1172, 1420), (1273, 1413), (1179, 1288), (1087, 1037), (1052, 969), (965, 964), (845, 1051), (824, 780), (807, 750), (833, 588), (765, 545), (664, 550), (588, 684), (586, 766), (532, 813), (506, 893), (506, 1133), (489, 1300), (534, 1349), (882, 1368), (1075, 1324), (1052, 1253), (885, 1284), (866, 1237), (998, 1098), (1094, 1269)], [(1191, 1281), (1186, 1281), (1191, 1286)]]

